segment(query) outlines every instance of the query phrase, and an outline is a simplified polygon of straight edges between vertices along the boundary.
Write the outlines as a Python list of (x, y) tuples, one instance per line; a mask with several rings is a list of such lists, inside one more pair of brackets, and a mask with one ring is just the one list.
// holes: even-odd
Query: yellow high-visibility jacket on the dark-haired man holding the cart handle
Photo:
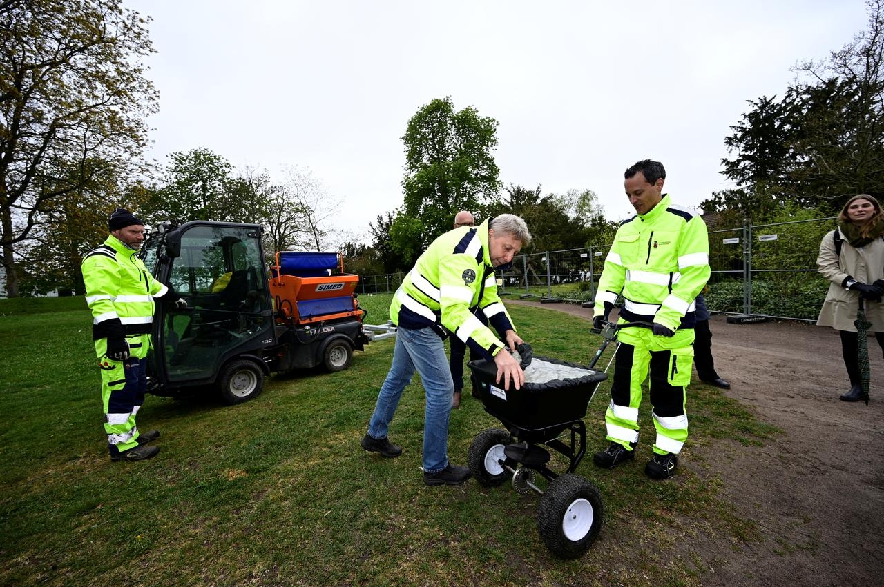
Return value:
[(664, 194), (647, 214), (621, 222), (598, 280), (594, 315), (622, 294), (621, 318), (693, 328), (694, 299), (709, 281), (703, 219)]

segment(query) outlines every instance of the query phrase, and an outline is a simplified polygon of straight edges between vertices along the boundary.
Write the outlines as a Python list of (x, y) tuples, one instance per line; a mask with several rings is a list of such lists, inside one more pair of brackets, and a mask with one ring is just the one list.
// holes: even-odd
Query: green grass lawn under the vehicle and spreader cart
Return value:
[[(368, 322), (386, 320), (390, 297), (360, 297)], [(585, 364), (600, 342), (565, 313), (510, 312), (537, 356)], [(576, 472), (598, 485), (605, 526), (583, 558), (561, 561), (537, 535), (538, 495), (475, 480), (423, 485), (418, 377), (391, 427), (404, 455), (359, 447), (392, 340), (341, 373), (275, 375), (236, 406), (149, 396), (139, 424), (162, 432), (160, 454), (110, 463), (90, 339), (82, 297), (0, 300), (0, 584), (698, 584), (705, 566), (677, 547), (682, 534), (760, 539), (696, 448), (774, 431), (715, 388), (690, 388), (691, 436), (674, 479), (644, 476), (647, 403), (635, 463), (583, 461)], [(607, 388), (585, 418), (590, 452), (606, 446)], [(465, 395), (451, 418), (453, 463), (466, 464), (489, 427), (499, 422)]]

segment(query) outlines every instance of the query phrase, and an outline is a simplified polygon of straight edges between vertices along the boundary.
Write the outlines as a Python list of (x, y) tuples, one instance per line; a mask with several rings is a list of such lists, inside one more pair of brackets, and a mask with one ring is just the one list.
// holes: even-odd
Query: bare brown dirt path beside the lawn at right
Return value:
[[(507, 299), (591, 319), (591, 309)], [(884, 584), (884, 359), (871, 342), (872, 399), (846, 403), (841, 342), (796, 322), (710, 320), (725, 393), (783, 431), (764, 447), (711, 445), (724, 493), (764, 536), (685, 538), (708, 585)], [(689, 389), (690, 417), (690, 389)], [(688, 440), (690, 442), (690, 439)], [(685, 463), (690, 466), (690, 463)]]

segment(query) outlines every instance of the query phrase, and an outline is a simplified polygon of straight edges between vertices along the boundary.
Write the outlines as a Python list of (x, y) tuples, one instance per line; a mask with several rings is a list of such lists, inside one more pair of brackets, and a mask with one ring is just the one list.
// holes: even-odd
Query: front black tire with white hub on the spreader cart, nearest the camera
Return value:
[(537, 531), (547, 548), (563, 559), (586, 553), (602, 528), (598, 488), (578, 475), (552, 480), (537, 508)]

